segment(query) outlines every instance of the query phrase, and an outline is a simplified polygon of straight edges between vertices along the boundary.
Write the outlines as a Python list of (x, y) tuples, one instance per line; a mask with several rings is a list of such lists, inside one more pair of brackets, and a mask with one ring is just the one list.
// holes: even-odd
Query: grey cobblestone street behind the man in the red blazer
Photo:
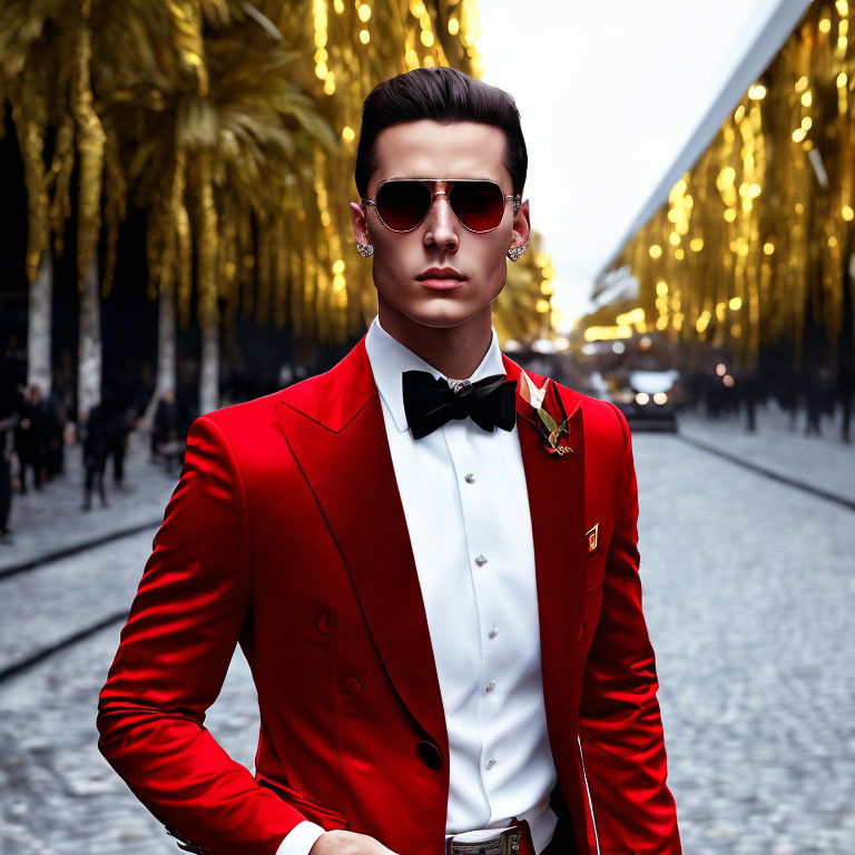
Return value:
[[(727, 441), (721, 431), (709, 441)], [(853, 512), (671, 435), (633, 442), (645, 609), (684, 851), (851, 855)], [(786, 441), (773, 445), (785, 465)], [(799, 479), (848, 466), (835, 489), (851, 490), (852, 449), (814, 440), (798, 450)], [(166, 475), (156, 474), (160, 489)], [(154, 531), (0, 580), (0, 668), (127, 608)], [(119, 630), (0, 684), (0, 855), (179, 852), (96, 747), (97, 694)], [(206, 725), (252, 767), (257, 705), (239, 652)]]

